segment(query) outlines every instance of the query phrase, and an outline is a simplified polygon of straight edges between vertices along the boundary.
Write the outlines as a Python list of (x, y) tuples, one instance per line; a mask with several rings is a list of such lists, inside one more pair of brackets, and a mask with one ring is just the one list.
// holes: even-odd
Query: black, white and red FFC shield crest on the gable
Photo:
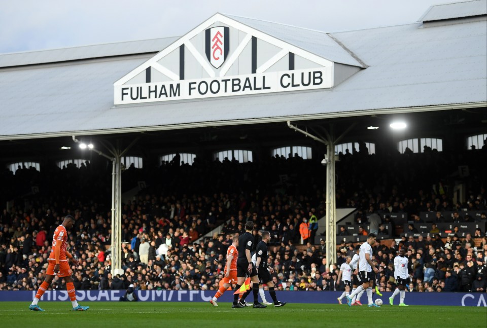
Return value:
[(205, 30), (206, 58), (215, 68), (219, 68), (228, 56), (229, 32), (228, 27), (218, 26)]

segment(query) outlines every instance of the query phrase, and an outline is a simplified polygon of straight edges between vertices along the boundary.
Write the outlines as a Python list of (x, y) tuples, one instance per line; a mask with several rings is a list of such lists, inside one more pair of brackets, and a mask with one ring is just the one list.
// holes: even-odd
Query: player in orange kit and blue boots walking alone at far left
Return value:
[(52, 249), (48, 259), (49, 266), (47, 267), (46, 278), (39, 287), (36, 297), (32, 301), (32, 304), (30, 304), (29, 306), (29, 310), (44, 311), (39, 307), (39, 305), (37, 305), (37, 303), (39, 302), (47, 288), (49, 288), (52, 279), (54, 279), (54, 275), (64, 278), (64, 281), (66, 282), (67, 295), (69, 295), (69, 299), (73, 304), (73, 311), (86, 311), (90, 308), (89, 306), (81, 306), (78, 304), (78, 302), (76, 302), (75, 285), (73, 284), (73, 278), (71, 277), (71, 268), (69, 267), (67, 260), (71, 260), (71, 262), (73, 262), (75, 266), (80, 264), (78, 260), (74, 259), (73, 256), (66, 251), (66, 230), (71, 230), (74, 224), (75, 218), (71, 215), (66, 215), (62, 224), (59, 225), (59, 227), (57, 227), (54, 231), (54, 235), (52, 237)]

